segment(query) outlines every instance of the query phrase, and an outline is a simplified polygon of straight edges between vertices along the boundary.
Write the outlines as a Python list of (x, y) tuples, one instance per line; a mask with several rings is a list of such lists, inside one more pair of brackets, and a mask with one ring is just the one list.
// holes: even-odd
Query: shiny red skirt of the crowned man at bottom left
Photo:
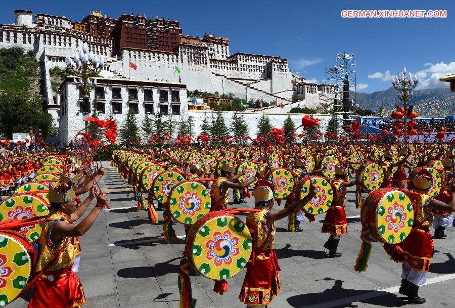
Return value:
[(54, 281), (44, 278), (44, 275), (39, 277), (28, 308), (74, 308), (83, 305), (84, 290), (71, 267), (72, 264), (64, 269), (46, 272), (46, 277), (54, 275)]

